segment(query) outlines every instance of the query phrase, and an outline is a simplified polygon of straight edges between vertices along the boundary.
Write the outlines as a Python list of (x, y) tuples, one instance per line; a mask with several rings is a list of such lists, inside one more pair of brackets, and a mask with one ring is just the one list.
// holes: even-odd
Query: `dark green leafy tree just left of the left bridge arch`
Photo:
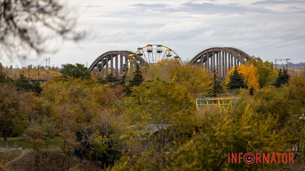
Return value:
[(72, 65), (68, 64), (65, 65), (64, 68), (60, 71), (63, 75), (68, 75), (74, 78), (81, 78), (81, 79), (90, 79), (91, 73), (88, 71), (88, 68), (82, 64)]

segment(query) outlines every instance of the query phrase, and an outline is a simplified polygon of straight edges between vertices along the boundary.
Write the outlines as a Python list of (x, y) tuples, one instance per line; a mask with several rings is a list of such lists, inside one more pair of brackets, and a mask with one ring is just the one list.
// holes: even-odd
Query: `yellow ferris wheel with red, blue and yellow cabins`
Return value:
[(123, 64), (123, 75), (120, 75), (120, 77), (123, 77), (135, 65), (142, 65), (144, 63), (154, 65), (163, 59), (178, 60), (183, 64), (178, 54), (160, 44), (148, 44), (145, 47), (139, 47), (134, 54), (129, 55), (129, 58), (129, 61)]

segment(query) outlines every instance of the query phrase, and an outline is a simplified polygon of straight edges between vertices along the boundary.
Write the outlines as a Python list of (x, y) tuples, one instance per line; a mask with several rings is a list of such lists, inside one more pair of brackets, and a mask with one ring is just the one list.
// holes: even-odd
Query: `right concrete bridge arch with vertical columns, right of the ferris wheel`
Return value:
[(205, 66), (210, 71), (216, 68), (218, 76), (224, 78), (234, 65), (245, 64), (249, 59), (246, 52), (234, 47), (211, 47), (196, 54), (190, 63)]

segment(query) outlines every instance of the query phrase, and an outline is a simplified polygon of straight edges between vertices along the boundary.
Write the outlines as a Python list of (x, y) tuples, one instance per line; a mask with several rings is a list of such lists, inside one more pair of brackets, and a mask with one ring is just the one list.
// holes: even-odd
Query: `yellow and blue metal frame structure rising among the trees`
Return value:
[(234, 94), (198, 94), (196, 99), (196, 109), (209, 110), (212, 106), (218, 106), (222, 111), (224, 107), (230, 105), (232, 110), (236, 110), (240, 97), (234, 96)]

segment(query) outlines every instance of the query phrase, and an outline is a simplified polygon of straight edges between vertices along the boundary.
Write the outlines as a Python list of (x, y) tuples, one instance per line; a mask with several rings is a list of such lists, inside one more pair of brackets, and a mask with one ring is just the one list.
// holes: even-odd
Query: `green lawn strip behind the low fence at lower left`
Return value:
[[(15, 147), (15, 142), (17, 147), (31, 147), (30, 143), (28, 141), (23, 140), (22, 137), (8, 137), (7, 138), (7, 146), (8, 147)], [(5, 147), (6, 143), (3, 141), (3, 138), (0, 140), (0, 147)], [(44, 145), (45, 148), (45, 140)], [(47, 139), (47, 148), (56, 148), (60, 147), (60, 139), (59, 137), (54, 137), (51, 139)]]

